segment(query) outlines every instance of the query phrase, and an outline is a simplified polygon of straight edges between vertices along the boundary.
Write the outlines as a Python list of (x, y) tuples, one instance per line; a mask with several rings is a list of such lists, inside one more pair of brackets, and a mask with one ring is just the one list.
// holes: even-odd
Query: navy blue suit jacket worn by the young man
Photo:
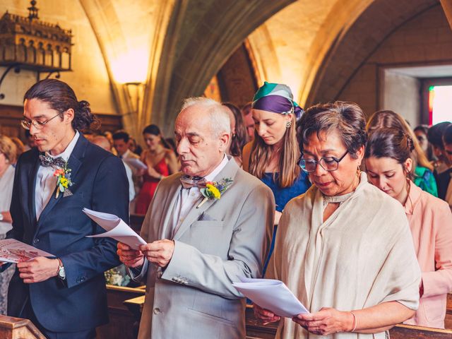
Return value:
[(49, 278), (25, 284), (18, 270), (8, 290), (8, 315), (20, 316), (27, 299), (37, 320), (52, 332), (75, 332), (108, 322), (104, 271), (118, 266), (117, 242), (87, 238), (105, 232), (82, 208), (118, 215), (129, 223), (129, 182), (119, 157), (89, 143), (82, 135), (69, 157), (72, 196), (55, 191), (39, 220), (35, 212), (35, 183), (39, 168), (36, 148), (23, 153), (14, 177), (8, 238), (35, 246), (57, 256), (66, 280)]

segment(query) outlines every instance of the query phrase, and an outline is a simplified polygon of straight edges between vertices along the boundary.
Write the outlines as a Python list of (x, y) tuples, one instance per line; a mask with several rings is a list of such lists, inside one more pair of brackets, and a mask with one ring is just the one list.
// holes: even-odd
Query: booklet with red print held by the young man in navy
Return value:
[(36, 247), (19, 242), (16, 239), (0, 240), (0, 261), (4, 263), (20, 263), (37, 256), (54, 256)]

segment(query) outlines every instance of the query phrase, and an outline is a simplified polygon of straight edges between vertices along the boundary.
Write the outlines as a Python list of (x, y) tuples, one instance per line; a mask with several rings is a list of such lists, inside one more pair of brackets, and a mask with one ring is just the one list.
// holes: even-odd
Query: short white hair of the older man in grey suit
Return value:
[(220, 136), (221, 133), (225, 132), (231, 133), (231, 121), (227, 107), (208, 97), (187, 97), (184, 100), (181, 112), (195, 105), (206, 109), (206, 115), (210, 119), (210, 126), (215, 136)]

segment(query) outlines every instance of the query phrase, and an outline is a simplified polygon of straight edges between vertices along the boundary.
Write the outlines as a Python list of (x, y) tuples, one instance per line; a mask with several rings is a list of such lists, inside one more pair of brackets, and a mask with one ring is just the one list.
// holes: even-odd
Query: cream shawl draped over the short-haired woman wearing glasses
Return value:
[[(323, 222), (321, 192), (312, 186), (283, 212), (267, 278), (283, 280), (311, 312), (398, 301), (419, 304), (420, 268), (405, 212), (361, 174), (355, 193)], [(325, 338), (291, 319), (277, 338)], [(336, 333), (328, 338), (385, 338), (385, 333)]]

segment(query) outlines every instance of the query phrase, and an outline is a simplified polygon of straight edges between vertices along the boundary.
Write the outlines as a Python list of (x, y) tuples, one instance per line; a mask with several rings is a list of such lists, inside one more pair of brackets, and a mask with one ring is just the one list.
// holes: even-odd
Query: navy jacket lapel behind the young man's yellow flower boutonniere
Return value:
[[(83, 157), (85, 157), (85, 150), (86, 146), (88, 146), (88, 141), (85, 139), (85, 137), (80, 134), (78, 137), (78, 141), (76, 143), (76, 146), (73, 148), (73, 151), (71, 153), (71, 156), (68, 160), (68, 168), (71, 169), (71, 181), (74, 183), (74, 185), (77, 184), (77, 172), (78, 169), (80, 169), (80, 166), (82, 165)], [(37, 222), (37, 229), (42, 225), (47, 215), (49, 215), (49, 212), (57, 205), (58, 201), (60, 201), (63, 198), (63, 194), (60, 192), (58, 198), (55, 198), (55, 194), (57, 193), (57, 187), (55, 187), (52, 196), (50, 196), (50, 200), (47, 203), (47, 205), (44, 207), (44, 210), (42, 210), (42, 213), (40, 215), (40, 220)]]

